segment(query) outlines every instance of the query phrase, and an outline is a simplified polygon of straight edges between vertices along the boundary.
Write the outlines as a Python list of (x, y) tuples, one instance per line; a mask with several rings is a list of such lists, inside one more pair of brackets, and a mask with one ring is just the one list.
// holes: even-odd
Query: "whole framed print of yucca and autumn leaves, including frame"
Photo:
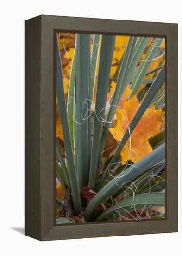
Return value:
[(25, 21), (25, 235), (177, 231), (177, 25)]

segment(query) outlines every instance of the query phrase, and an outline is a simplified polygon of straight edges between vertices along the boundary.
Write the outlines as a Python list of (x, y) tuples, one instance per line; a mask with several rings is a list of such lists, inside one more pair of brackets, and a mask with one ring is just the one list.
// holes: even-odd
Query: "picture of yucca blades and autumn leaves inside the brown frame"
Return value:
[(56, 223), (165, 217), (165, 40), (58, 33)]

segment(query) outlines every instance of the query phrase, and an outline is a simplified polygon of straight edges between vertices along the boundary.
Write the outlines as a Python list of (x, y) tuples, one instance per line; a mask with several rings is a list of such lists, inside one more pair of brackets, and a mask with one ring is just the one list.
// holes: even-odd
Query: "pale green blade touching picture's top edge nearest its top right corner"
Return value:
[(163, 41), (163, 38), (156, 38), (149, 47), (147, 53), (144, 56), (144, 60), (142, 60), (142, 63), (140, 64), (137, 73), (135, 74), (134, 80), (132, 81), (131, 84), (131, 89), (132, 93), (131, 96), (133, 95), (133, 92), (137, 94), (139, 87), (142, 84), (142, 81), (144, 80), (144, 77), (147, 73), (147, 70), (149, 69), (151, 62), (155, 57), (157, 56), (158, 49)]

